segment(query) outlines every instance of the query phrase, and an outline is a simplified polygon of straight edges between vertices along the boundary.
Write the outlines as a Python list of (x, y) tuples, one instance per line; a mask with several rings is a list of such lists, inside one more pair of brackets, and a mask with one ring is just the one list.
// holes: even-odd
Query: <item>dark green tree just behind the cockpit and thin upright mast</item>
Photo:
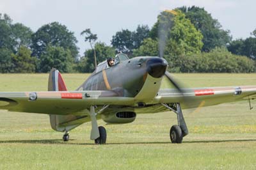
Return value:
[[(97, 63), (105, 61), (109, 57), (115, 56), (115, 49), (102, 42), (95, 43), (95, 51), (97, 55)], [(78, 72), (93, 72), (93, 70), (95, 70), (93, 65), (93, 54), (94, 50), (92, 49), (84, 52), (84, 57), (80, 59), (76, 66), (76, 70)]]

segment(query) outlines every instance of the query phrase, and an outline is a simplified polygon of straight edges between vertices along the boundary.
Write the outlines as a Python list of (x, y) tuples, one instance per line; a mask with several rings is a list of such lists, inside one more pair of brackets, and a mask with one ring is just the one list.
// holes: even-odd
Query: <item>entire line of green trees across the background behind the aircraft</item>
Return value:
[(77, 39), (66, 26), (52, 22), (33, 32), (0, 13), (0, 72), (93, 72), (97, 63), (123, 52), (135, 56), (161, 56), (170, 72), (256, 72), (256, 29), (252, 37), (232, 40), (228, 30), (196, 6), (165, 11), (151, 28), (139, 25), (135, 31), (122, 29), (111, 45), (97, 40), (90, 29), (81, 30), (90, 43), (80, 58)]

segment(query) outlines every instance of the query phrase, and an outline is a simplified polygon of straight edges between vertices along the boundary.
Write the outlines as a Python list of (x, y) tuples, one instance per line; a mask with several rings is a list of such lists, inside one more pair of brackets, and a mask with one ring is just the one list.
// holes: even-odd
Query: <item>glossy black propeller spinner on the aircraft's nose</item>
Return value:
[(147, 61), (147, 72), (154, 78), (160, 78), (164, 75), (168, 63), (163, 58), (150, 58)]

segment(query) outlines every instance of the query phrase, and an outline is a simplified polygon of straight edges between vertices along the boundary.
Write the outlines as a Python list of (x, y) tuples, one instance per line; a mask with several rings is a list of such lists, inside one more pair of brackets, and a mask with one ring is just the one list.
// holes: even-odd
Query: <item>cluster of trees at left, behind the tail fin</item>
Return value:
[(78, 48), (74, 33), (66, 26), (52, 22), (35, 33), (23, 24), (0, 13), (0, 72), (74, 72)]

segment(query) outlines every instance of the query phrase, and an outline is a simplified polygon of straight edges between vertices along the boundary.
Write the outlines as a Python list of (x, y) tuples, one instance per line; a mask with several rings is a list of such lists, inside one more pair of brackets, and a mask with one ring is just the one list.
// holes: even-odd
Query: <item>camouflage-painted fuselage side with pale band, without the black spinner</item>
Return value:
[(152, 59), (152, 57), (132, 58), (100, 72), (93, 72), (78, 89), (113, 90), (120, 97), (135, 97), (148, 79), (148, 59)]

